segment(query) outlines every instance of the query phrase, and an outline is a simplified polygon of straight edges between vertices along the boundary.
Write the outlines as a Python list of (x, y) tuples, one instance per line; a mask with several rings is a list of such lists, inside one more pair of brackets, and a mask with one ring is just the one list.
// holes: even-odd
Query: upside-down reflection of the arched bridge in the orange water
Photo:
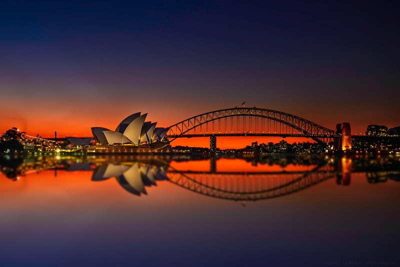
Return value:
[(316, 166), (310, 171), (194, 173), (168, 169), (173, 184), (190, 191), (231, 200), (259, 200), (291, 194), (335, 177), (331, 166)]

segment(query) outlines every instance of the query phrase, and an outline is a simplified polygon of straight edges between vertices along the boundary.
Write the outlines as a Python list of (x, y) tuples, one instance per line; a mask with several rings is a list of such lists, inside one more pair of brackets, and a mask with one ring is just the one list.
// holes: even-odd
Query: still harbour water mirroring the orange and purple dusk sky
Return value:
[(398, 262), (400, 157), (2, 156), (0, 264)]

